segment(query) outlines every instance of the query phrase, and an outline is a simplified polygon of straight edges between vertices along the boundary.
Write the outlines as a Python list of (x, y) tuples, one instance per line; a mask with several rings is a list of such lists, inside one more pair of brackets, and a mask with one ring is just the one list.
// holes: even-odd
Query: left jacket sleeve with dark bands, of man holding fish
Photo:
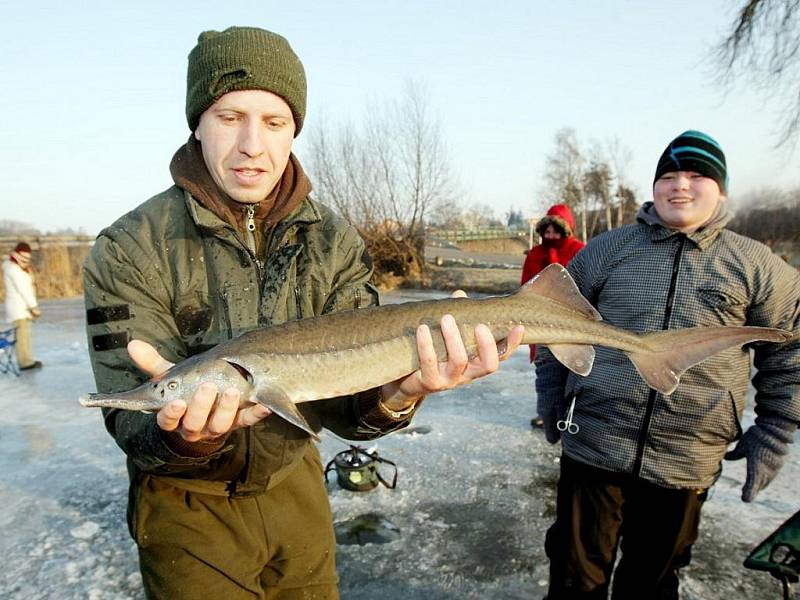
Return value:
[[(101, 235), (84, 265), (89, 354), (100, 392), (131, 389), (147, 378), (128, 356), (126, 346), (132, 339), (153, 344), (173, 362), (186, 356), (172, 318), (168, 286), (152, 267), (157, 261), (132, 239), (123, 241)], [(154, 413), (103, 409), (103, 414), (106, 429), (142, 471), (220, 480), (236, 472), (230, 450), (239, 432), (210, 454), (182, 456), (167, 444)]]

